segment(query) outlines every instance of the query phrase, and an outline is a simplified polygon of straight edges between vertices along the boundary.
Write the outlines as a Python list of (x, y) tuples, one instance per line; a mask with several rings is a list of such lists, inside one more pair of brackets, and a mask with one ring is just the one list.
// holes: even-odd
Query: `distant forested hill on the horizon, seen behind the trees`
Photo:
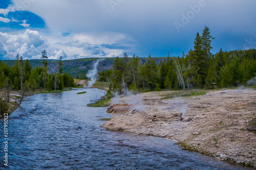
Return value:
[[(94, 64), (94, 61), (98, 60), (99, 58), (83, 58), (83, 59), (75, 59), (75, 60), (62, 60), (63, 62), (63, 72), (68, 72), (70, 76), (73, 76), (74, 78), (84, 78), (87, 71), (89, 69), (92, 69), (92, 66)], [(144, 64), (147, 58), (140, 58), (141, 64)], [(161, 58), (155, 58), (156, 62), (159, 63), (160, 61), (163, 61), (164, 57)], [(101, 70), (108, 70), (112, 69), (113, 67), (113, 61), (115, 58), (105, 58), (104, 61), (99, 62), (98, 69)], [(9, 66), (14, 65), (15, 60), (1, 60), (4, 63), (7, 63)], [(41, 60), (29, 60), (32, 68), (34, 69), (36, 66), (40, 67)], [(49, 72), (56, 72), (57, 66), (58, 66), (58, 60), (47, 60)]]

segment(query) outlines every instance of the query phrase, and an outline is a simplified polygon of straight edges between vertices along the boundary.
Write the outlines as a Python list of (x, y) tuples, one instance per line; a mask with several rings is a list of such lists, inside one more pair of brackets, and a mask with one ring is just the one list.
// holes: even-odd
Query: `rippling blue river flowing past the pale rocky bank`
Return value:
[(183, 151), (168, 139), (105, 130), (99, 117), (110, 117), (106, 108), (87, 107), (103, 94), (79, 89), (25, 98), (8, 119), (8, 167), (0, 138), (0, 169), (247, 169)]

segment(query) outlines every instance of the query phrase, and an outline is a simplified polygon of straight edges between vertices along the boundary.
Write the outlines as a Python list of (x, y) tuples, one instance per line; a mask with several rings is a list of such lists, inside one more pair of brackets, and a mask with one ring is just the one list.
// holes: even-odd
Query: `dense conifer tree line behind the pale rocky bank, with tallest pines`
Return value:
[(109, 82), (110, 89), (125, 92), (125, 88), (147, 91), (160, 89), (213, 89), (246, 85), (246, 82), (256, 76), (256, 50), (220, 51), (211, 53), (209, 28), (196, 34), (193, 49), (181, 57), (170, 57), (156, 63), (148, 56), (141, 64), (135, 55), (122, 58), (116, 57), (113, 69), (99, 72), (100, 81)]

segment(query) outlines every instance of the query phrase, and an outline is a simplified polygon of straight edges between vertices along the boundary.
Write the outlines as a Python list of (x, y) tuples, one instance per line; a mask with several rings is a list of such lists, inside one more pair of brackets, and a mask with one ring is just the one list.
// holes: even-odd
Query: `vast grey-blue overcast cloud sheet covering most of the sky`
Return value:
[[(195, 11), (198, 0), (113, 1), (118, 3), (114, 10), (110, 1), (101, 0), (12, 0), (13, 7), (0, 9), (0, 13), (7, 15), (8, 11), (17, 9), (40, 16), (47, 26), (44, 37), (51, 44), (50, 56), (56, 55), (54, 52), (59, 51), (56, 49), (63, 49), (67, 58), (120, 56), (123, 52), (140, 57), (152, 52), (167, 54), (167, 51), (171, 55), (181, 55), (193, 47), (196, 33), (204, 26), (208, 26), (216, 37), (214, 43), (217, 45), (213, 46), (217, 51), (220, 47), (225, 50), (235, 50), (239, 44), (242, 47), (246, 37), (255, 39), (256, 22), (252, 22), (256, 15), (255, 0), (246, 3), (205, 0), (206, 6), (195, 12), (195, 17), (189, 19), (180, 33), (174, 22), (181, 22), (182, 14)], [(20, 25), (28, 26), (21, 21)], [(70, 34), (62, 36), (61, 33)], [(238, 33), (239, 40), (227, 38), (237, 37)]]

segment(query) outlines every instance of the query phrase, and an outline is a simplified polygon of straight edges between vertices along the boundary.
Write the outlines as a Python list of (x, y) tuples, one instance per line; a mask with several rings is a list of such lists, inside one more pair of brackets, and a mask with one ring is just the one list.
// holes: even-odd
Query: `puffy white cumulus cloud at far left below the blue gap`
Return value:
[(38, 31), (27, 29), (24, 34), (11, 35), (0, 32), (0, 54), (4, 58), (14, 59), (18, 54), (30, 59), (40, 58), (41, 51), (49, 46)]

